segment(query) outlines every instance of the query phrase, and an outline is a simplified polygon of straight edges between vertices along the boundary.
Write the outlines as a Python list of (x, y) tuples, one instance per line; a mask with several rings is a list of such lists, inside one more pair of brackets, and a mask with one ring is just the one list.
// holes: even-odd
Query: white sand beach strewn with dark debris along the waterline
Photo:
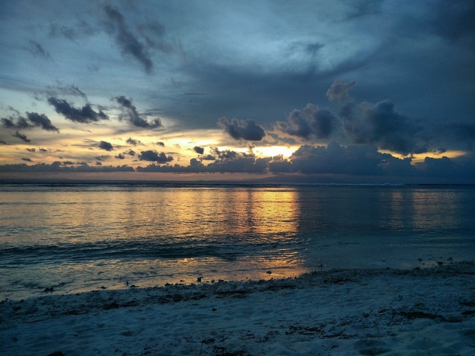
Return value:
[(475, 263), (45, 295), (0, 355), (475, 355)]

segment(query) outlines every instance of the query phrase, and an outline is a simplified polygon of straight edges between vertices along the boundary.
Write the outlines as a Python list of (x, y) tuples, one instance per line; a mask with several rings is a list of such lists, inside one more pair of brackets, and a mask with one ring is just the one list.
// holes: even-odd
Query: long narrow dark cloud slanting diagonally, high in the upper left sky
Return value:
[(115, 32), (115, 40), (121, 47), (122, 53), (132, 55), (142, 63), (146, 73), (151, 73), (153, 62), (150, 59), (147, 48), (130, 31), (124, 20), (124, 16), (116, 7), (109, 4), (104, 6), (104, 11), (107, 15), (108, 24)]

